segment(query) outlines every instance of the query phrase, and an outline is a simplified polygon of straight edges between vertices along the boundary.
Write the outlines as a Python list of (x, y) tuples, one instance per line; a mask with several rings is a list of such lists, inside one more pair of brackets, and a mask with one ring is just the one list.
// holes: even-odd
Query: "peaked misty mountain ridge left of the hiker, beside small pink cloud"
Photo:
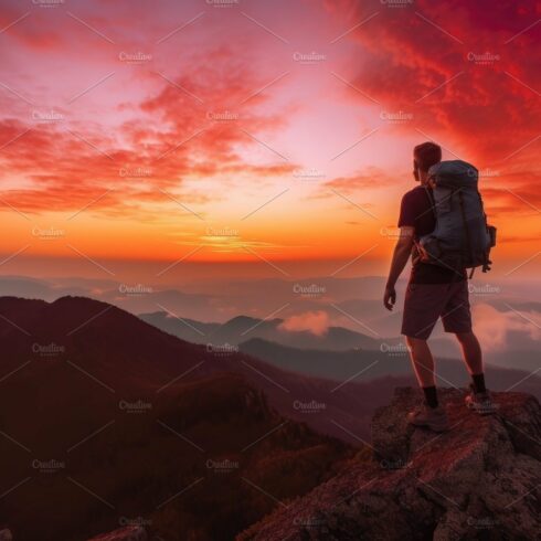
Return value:
[[(291, 331), (283, 328), (284, 319), (258, 319), (237, 316), (225, 323), (203, 323), (177, 318), (163, 311), (141, 314), (139, 317), (166, 332), (195, 343), (237, 346), (251, 338), (262, 338), (295, 348), (348, 350), (378, 349), (382, 340), (368, 337), (343, 327), (329, 327), (327, 332)], [(395, 340), (394, 340), (395, 341)]]

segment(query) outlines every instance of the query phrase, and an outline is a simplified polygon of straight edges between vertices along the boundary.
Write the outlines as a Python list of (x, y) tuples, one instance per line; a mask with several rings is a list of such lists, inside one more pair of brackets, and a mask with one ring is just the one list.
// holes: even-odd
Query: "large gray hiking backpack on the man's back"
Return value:
[(462, 160), (441, 161), (428, 169), (431, 199), (436, 226), (416, 242), (420, 261), (454, 270), (482, 267), (490, 270), (490, 248), (496, 227), (487, 224), (477, 189), (477, 169)]

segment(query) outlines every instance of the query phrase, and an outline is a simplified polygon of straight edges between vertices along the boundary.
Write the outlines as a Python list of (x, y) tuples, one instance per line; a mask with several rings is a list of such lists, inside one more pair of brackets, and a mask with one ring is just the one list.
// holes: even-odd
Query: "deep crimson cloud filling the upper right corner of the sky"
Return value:
[(364, 50), (352, 66), (354, 86), (383, 106), (412, 108), (417, 127), (452, 141), (452, 151), (531, 168), (539, 153), (538, 2), (331, 3), (337, 15), (352, 13), (346, 28), (378, 13), (343, 38)]

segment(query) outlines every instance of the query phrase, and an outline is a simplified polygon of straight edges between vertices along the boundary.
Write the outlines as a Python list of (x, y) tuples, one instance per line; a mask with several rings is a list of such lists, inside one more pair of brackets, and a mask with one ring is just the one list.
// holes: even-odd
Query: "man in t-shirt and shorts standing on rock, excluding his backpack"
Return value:
[(471, 330), (471, 314), (468, 300), (466, 269), (453, 269), (421, 262), (415, 250), (420, 236), (434, 231), (432, 188), (428, 169), (442, 160), (442, 149), (434, 142), (424, 142), (414, 148), (414, 178), (421, 185), (402, 198), (399, 227), (400, 236), (394, 248), (383, 304), (392, 310), (396, 301), (396, 280), (412, 254), (412, 273), (404, 300), (402, 335), (405, 335), (410, 357), (424, 403), (407, 414), (415, 426), (425, 426), (435, 432), (448, 429), (445, 409), (438, 403), (434, 359), (427, 344), (434, 325), (442, 318), (446, 332), (453, 332), (463, 350), (464, 361), (471, 375), (470, 393), (466, 404), (480, 414), (491, 413), (490, 395), (485, 388), (482, 356), (479, 342)]

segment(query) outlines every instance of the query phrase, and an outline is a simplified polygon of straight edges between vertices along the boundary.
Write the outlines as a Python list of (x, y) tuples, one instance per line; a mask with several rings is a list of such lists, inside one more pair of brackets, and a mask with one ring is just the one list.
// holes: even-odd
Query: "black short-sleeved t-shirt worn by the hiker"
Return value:
[[(402, 198), (399, 227), (415, 227), (415, 240), (427, 235), (436, 226), (436, 216), (432, 208), (432, 190), (417, 185)], [(413, 284), (448, 284), (466, 278), (466, 270), (453, 270), (431, 263), (415, 262), (410, 282)]]

